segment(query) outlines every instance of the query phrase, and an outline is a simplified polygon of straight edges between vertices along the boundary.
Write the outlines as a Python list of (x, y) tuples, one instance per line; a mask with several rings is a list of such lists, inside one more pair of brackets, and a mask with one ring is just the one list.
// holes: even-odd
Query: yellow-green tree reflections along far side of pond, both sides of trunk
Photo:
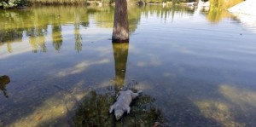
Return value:
[[(96, 25), (100, 27), (113, 28), (113, 11), (112, 7), (44, 7), (38, 9), (25, 10), (8, 10), (2, 11), (0, 26), (3, 31), (0, 33), (0, 46), (8, 43), (9, 52), (12, 51), (11, 43), (22, 42), (22, 34), (26, 33), (29, 42), (32, 45), (32, 52), (37, 53), (38, 50), (46, 52), (47, 30), (52, 29), (52, 43), (56, 50), (61, 49), (62, 38), (61, 27), (65, 24), (74, 23), (74, 45), (79, 52), (82, 49), (82, 38), (79, 33), (81, 26), (89, 26), (89, 14), (93, 14)], [(147, 18), (148, 15), (156, 15), (165, 20), (176, 12), (194, 13), (194, 9), (172, 6), (162, 8), (161, 6), (145, 6), (138, 8), (131, 6), (128, 9), (129, 32), (135, 32), (142, 14)]]

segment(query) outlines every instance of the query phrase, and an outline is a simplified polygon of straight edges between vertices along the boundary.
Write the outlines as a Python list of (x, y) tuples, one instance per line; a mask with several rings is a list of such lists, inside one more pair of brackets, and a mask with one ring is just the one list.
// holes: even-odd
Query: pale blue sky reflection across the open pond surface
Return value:
[[(67, 124), (63, 103), (73, 109), (75, 102), (55, 86), (80, 101), (89, 86), (104, 93), (118, 82), (136, 81), (169, 125), (255, 126), (255, 33), (229, 17), (212, 24), (204, 14), (160, 10), (139, 9), (141, 14), (131, 15), (138, 25), (124, 49), (108, 40), (112, 29), (100, 27), (104, 21), (96, 14), (90, 14), (89, 26), (74, 26), (69, 19), (60, 25), (61, 32), (53, 33), (60, 26), (48, 25), (46, 52), (36, 36), (38, 52), (32, 53), (26, 32), (21, 42), (1, 44), (0, 74), (11, 82), (9, 99), (0, 95), (0, 125)], [(60, 40), (56, 50), (53, 42)]]

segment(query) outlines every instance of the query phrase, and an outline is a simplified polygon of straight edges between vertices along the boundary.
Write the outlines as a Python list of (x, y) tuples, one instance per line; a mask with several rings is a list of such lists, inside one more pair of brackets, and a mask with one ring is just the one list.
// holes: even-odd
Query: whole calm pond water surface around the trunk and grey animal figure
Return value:
[[(0, 10), (0, 126), (256, 126), (256, 28), (225, 11), (131, 6)], [(6, 75), (6, 76), (3, 76)], [(120, 121), (119, 90), (143, 90)]]

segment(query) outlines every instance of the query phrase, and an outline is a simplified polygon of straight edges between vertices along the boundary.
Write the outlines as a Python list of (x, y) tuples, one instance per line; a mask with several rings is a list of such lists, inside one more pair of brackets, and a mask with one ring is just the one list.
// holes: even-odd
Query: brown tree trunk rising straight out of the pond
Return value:
[(126, 0), (115, 0), (112, 41), (129, 42), (129, 26)]

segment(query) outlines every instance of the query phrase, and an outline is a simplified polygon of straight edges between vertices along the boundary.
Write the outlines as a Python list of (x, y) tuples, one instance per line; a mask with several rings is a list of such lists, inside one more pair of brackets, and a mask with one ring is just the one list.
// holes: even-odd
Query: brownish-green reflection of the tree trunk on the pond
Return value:
[(112, 43), (115, 68), (115, 85), (119, 90), (125, 81), (129, 43)]

